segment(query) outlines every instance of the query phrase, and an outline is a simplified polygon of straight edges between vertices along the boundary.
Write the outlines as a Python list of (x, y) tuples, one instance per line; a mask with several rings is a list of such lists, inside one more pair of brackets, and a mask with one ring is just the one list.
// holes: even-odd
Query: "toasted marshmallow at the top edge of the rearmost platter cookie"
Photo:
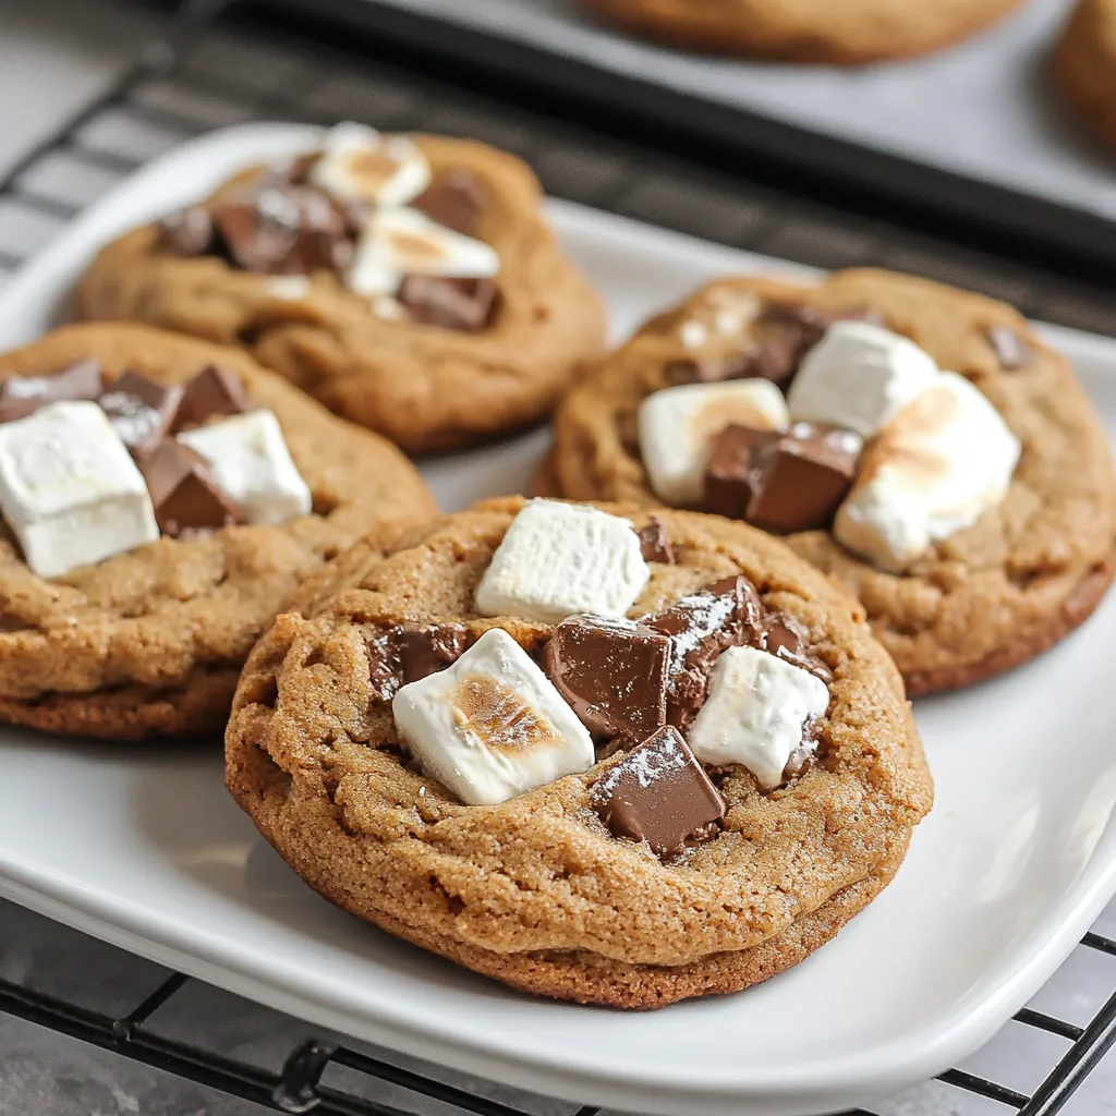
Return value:
[(363, 124), (338, 124), (326, 133), (309, 180), (346, 201), (405, 205), (431, 181), (426, 156), (404, 136), (384, 136)]

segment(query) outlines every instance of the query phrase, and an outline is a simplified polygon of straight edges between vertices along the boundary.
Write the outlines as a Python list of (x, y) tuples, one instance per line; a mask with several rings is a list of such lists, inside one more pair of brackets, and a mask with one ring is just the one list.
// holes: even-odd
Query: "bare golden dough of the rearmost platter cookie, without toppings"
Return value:
[[(100, 252), (79, 285), (79, 311), (242, 345), (329, 410), (410, 453), (458, 449), (537, 422), (575, 365), (599, 354), (602, 304), (562, 254), (526, 164), (464, 140), (417, 136), (415, 144), (435, 184), (462, 173), (479, 183), (475, 221), (466, 214), (470, 233), (500, 259), (494, 302), (482, 325), (425, 324), (394, 299), (356, 294), (341, 273), (321, 266), (320, 244), (308, 256), (308, 288), (298, 294), (296, 283), (290, 297), (289, 281), (283, 289), (275, 275), (214, 254), (183, 256), (157, 224)], [(261, 182), (262, 174), (257, 167), (238, 176), (206, 202), (208, 211)], [(439, 209), (442, 215), (444, 205)], [(291, 260), (270, 263), (287, 272), (296, 268)], [(448, 297), (444, 288), (435, 295)], [(439, 316), (437, 305), (425, 309)]]

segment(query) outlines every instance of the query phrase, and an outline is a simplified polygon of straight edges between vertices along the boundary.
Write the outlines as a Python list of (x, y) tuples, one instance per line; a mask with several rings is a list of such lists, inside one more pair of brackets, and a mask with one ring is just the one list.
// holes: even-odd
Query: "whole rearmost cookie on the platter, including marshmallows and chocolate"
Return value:
[(323, 144), (109, 244), (79, 311), (241, 345), (408, 453), (542, 419), (605, 315), (527, 165), (358, 125)]

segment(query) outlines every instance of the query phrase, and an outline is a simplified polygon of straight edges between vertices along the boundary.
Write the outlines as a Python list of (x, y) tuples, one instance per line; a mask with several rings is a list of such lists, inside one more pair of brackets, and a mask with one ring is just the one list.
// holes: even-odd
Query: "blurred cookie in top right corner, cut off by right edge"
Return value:
[(1116, 147), (1114, 0), (1079, 0), (1055, 51), (1054, 80), (1089, 131)]

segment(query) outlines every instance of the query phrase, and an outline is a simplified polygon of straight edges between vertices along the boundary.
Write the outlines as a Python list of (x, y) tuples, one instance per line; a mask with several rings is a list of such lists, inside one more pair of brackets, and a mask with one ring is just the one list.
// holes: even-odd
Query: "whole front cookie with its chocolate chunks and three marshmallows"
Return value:
[(518, 989), (622, 1008), (802, 960), (887, 884), (932, 800), (863, 609), (782, 542), (518, 498), (311, 576), (249, 660), (225, 757), (326, 898)]

